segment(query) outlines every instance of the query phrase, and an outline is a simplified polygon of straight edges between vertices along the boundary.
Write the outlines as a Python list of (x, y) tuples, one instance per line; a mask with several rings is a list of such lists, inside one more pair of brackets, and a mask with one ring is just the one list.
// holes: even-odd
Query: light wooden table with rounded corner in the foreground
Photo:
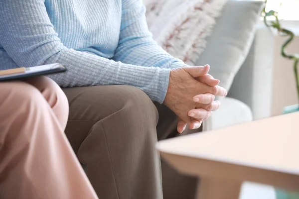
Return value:
[(198, 199), (238, 199), (242, 182), (299, 191), (299, 113), (157, 143), (179, 172), (201, 178)]

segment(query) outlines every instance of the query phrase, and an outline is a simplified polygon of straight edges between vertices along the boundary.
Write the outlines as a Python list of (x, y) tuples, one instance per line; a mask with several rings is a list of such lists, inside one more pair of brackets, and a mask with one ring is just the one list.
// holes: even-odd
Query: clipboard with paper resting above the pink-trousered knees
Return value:
[(15, 68), (8, 70), (0, 70), (0, 82), (21, 80), (35, 76), (49, 75), (54, 73), (65, 72), (66, 68), (59, 63), (47, 64), (42, 66), (34, 66), (28, 68)]

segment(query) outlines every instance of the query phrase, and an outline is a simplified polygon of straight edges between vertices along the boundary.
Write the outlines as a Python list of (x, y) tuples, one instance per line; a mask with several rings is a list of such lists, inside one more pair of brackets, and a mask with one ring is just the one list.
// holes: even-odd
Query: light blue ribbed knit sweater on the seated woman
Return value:
[(0, 0), (0, 69), (59, 62), (61, 87), (132, 85), (163, 102), (184, 63), (151, 38), (142, 0)]

